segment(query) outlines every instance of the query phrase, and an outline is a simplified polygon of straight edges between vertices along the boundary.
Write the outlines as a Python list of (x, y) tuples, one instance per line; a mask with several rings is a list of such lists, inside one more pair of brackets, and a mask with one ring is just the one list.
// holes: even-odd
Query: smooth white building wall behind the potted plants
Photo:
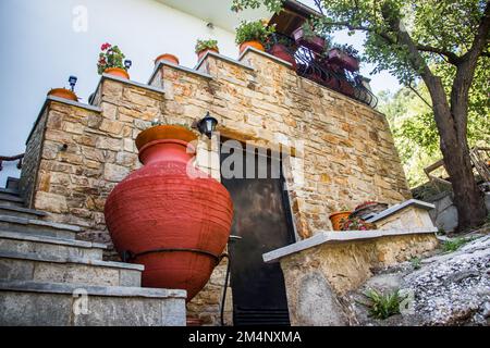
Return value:
[[(83, 28), (85, 10), (87, 27), (77, 33), (74, 24)], [(70, 75), (78, 77), (76, 92), (87, 102), (99, 79), (101, 44), (119, 45), (133, 60), (132, 79), (146, 83), (161, 53), (193, 67), (197, 38), (218, 39), (228, 57), (238, 53), (234, 33), (210, 29), (205, 21), (156, 0), (1, 0), (0, 156), (25, 151), (46, 94), (66, 86)], [(20, 175), (15, 164), (4, 163), (0, 187), (8, 176)]]

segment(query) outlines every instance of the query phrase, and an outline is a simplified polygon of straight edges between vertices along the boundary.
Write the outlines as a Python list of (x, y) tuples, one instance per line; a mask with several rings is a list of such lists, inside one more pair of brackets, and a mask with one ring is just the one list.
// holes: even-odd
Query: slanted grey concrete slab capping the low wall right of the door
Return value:
[(407, 228), (407, 229), (375, 229), (375, 231), (345, 231), (323, 232), (311, 238), (295, 243), (287, 247), (277, 249), (262, 256), (266, 263), (277, 262), (280, 259), (314, 248), (322, 244), (340, 244), (345, 241), (367, 240), (388, 236), (404, 236), (416, 234), (434, 234), (438, 228)]

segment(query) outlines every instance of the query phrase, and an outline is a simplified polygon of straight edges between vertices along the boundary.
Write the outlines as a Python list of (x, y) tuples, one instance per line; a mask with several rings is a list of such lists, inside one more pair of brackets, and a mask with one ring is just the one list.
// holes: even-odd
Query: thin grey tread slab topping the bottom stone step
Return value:
[(4, 282), (0, 281), (0, 291), (20, 293), (50, 293), (73, 295), (75, 290), (83, 288), (87, 295), (103, 297), (145, 297), (145, 298), (183, 298), (187, 297), (185, 290), (156, 289), (124, 286), (94, 286), (61, 283), (38, 282)]

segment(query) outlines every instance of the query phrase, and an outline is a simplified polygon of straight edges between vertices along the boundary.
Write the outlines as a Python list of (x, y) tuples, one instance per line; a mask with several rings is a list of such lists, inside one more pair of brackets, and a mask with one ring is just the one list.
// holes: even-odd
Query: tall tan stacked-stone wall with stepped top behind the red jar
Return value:
[[(290, 150), (284, 163), (294, 185), (289, 194), (298, 238), (331, 229), (329, 213), (343, 206), (411, 198), (382, 114), (266, 54), (249, 50), (240, 63), (209, 54), (198, 71), (160, 63), (150, 84), (103, 76), (94, 98), (99, 111), (47, 102), (28, 139), (22, 173), (32, 208), (84, 227), (86, 240), (110, 244), (103, 206), (112, 188), (140, 166), (136, 136), (154, 120), (192, 125), (208, 111), (219, 120), (222, 137)], [(201, 137), (197, 158), (219, 179), (217, 141)], [(189, 303), (191, 312), (205, 313), (207, 324), (218, 324), (224, 270), (223, 262)]]

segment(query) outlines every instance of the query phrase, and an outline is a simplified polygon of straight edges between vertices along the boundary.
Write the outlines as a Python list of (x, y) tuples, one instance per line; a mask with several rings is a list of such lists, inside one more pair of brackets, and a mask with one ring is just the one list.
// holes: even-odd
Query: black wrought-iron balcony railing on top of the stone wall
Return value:
[(372, 108), (378, 104), (378, 98), (365, 86), (364, 77), (357, 72), (350, 72), (330, 64), (326, 54), (314, 52), (307, 47), (298, 46), (294, 39), (274, 34), (270, 49), (274, 44), (281, 44), (296, 61), (296, 73), (347, 97), (354, 98)]

